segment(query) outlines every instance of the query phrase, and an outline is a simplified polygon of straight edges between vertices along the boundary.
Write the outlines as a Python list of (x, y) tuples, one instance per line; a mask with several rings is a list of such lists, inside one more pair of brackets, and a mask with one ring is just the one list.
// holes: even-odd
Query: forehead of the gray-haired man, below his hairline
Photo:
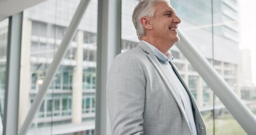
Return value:
[(155, 13), (175, 12), (174, 8), (167, 2), (159, 2), (155, 5)]

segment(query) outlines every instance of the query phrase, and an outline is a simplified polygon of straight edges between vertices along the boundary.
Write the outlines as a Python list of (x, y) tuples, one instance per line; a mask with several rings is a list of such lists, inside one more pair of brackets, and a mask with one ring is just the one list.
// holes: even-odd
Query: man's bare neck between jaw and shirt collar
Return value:
[(166, 42), (164, 40), (149, 38), (149, 37), (141, 37), (141, 40), (145, 40), (147, 43), (152, 44), (155, 48), (157, 48), (160, 52), (164, 53), (164, 55), (167, 55), (167, 52), (170, 50), (170, 48), (173, 46), (174, 43)]

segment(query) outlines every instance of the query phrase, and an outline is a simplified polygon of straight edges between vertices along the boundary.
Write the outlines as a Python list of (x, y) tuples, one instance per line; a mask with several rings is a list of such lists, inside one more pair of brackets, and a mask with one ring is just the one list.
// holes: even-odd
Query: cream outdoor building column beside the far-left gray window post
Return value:
[(19, 122), (18, 128), (23, 124), (29, 111), (29, 91), (31, 89), (30, 73), (30, 50), (32, 37), (32, 21), (23, 19), (23, 31), (21, 40), (21, 60), (20, 60), (20, 92), (19, 92)]

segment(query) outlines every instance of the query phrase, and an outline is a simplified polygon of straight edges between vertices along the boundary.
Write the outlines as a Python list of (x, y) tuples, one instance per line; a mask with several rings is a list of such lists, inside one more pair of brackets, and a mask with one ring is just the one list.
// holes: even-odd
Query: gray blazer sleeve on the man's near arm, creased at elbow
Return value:
[(129, 53), (116, 56), (107, 77), (107, 106), (113, 135), (143, 134), (146, 78)]

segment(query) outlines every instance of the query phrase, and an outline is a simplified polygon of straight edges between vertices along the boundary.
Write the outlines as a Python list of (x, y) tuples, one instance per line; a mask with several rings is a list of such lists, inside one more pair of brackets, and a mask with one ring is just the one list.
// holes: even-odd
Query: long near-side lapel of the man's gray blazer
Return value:
[(163, 67), (160, 65), (158, 59), (154, 55), (154, 52), (152, 52), (151, 49), (149, 47), (147, 47), (147, 45), (144, 44), (143, 42), (140, 42), (138, 44), (138, 47), (142, 48), (143, 51), (148, 53), (147, 57), (149, 57), (149, 60), (155, 66), (155, 68), (158, 71), (158, 73), (160, 74), (161, 78), (163, 78), (164, 83), (168, 87), (168, 89), (169, 89), (170, 93), (172, 94), (174, 100), (177, 102), (177, 105), (179, 106), (179, 109), (181, 109), (181, 112), (182, 112), (183, 116), (185, 117), (186, 122), (188, 123), (187, 115), (186, 115), (185, 109), (183, 107), (183, 104), (181, 102), (181, 98), (179, 97), (179, 95), (178, 95), (176, 89), (174, 88), (174, 85), (172, 84), (172, 82), (170, 82), (170, 80), (168, 79), (167, 74), (165, 73)]

